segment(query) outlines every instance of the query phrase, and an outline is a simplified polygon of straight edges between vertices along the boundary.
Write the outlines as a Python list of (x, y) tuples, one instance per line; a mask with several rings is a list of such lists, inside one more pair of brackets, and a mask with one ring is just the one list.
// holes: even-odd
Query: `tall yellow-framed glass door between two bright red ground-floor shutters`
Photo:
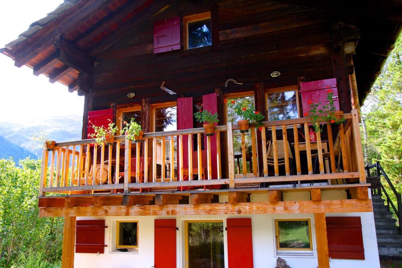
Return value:
[(186, 268), (224, 268), (223, 221), (185, 222)]

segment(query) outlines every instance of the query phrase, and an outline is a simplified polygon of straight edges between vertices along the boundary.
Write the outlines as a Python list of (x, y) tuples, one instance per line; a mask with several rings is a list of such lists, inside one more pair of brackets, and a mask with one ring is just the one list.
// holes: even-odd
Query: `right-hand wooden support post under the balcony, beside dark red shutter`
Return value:
[(314, 213), (314, 222), (316, 227), (318, 268), (329, 268), (325, 213)]

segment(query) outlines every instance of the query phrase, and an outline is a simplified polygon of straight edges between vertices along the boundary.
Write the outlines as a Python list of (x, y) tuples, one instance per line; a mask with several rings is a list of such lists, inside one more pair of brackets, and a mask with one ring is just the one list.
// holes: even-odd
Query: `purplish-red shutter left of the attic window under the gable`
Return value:
[(180, 17), (154, 22), (154, 54), (180, 49)]

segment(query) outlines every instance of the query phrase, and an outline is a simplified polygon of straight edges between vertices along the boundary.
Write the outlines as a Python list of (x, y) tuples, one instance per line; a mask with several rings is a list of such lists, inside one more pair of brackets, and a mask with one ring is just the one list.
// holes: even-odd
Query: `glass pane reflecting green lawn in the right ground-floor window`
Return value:
[(280, 248), (310, 248), (308, 221), (278, 221)]

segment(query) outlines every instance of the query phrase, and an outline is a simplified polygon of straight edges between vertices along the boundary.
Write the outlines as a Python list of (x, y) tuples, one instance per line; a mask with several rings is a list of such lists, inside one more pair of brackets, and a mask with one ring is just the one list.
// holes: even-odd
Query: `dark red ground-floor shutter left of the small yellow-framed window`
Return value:
[(76, 253), (104, 253), (105, 220), (76, 223)]

